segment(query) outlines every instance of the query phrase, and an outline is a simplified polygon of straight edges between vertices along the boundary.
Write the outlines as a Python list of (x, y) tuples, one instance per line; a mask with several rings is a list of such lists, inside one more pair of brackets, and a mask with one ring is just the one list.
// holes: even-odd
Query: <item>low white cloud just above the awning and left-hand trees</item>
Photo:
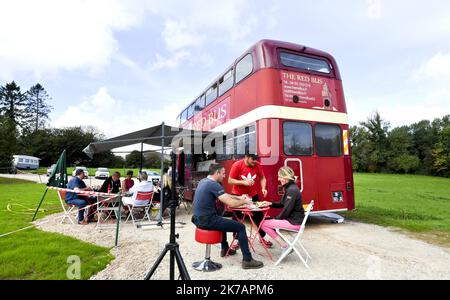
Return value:
[(101, 87), (92, 96), (81, 100), (77, 106), (70, 106), (59, 117), (53, 118), (53, 127), (94, 126), (107, 138), (137, 131), (161, 124), (175, 125), (178, 104), (156, 108), (152, 105), (139, 106), (117, 100), (107, 88)]

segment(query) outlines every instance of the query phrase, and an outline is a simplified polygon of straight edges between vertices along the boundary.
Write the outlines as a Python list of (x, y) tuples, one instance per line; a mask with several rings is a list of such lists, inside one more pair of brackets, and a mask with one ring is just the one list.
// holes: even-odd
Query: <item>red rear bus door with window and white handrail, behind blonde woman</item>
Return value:
[(303, 204), (308, 204), (311, 200), (317, 200), (312, 125), (301, 121), (284, 121), (282, 130), (282, 166), (292, 168), (298, 177), (297, 185), (302, 191)]

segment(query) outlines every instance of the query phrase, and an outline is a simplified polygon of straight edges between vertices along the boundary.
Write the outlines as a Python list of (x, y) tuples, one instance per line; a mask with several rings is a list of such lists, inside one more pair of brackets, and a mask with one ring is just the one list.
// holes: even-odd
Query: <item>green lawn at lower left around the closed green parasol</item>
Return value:
[[(30, 226), (45, 190), (41, 184), (0, 178), (0, 235)], [(38, 218), (61, 212), (49, 191)], [(0, 279), (67, 279), (70, 256), (81, 261), (81, 279), (89, 279), (113, 259), (108, 248), (35, 228), (0, 237)]]

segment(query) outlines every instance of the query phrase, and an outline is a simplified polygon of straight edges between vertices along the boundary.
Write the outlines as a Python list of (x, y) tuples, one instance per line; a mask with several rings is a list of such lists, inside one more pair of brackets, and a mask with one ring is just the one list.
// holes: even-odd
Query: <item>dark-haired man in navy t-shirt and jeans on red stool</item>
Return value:
[(225, 168), (213, 164), (209, 168), (209, 176), (200, 181), (194, 196), (192, 223), (204, 230), (222, 231), (222, 244), (220, 256), (236, 254), (236, 250), (229, 249), (227, 232), (236, 232), (241, 245), (243, 269), (259, 269), (264, 266), (260, 261), (253, 259), (248, 246), (248, 237), (245, 225), (235, 220), (219, 216), (216, 210), (216, 199), (231, 208), (244, 204), (251, 204), (252, 200), (244, 196), (232, 196), (225, 193), (221, 183), (225, 178)]

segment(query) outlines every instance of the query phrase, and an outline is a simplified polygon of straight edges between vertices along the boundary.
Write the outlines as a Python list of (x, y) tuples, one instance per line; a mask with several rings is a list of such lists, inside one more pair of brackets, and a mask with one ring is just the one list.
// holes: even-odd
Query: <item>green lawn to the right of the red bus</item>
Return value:
[(394, 226), (450, 246), (450, 179), (355, 174), (356, 209), (346, 217)]

